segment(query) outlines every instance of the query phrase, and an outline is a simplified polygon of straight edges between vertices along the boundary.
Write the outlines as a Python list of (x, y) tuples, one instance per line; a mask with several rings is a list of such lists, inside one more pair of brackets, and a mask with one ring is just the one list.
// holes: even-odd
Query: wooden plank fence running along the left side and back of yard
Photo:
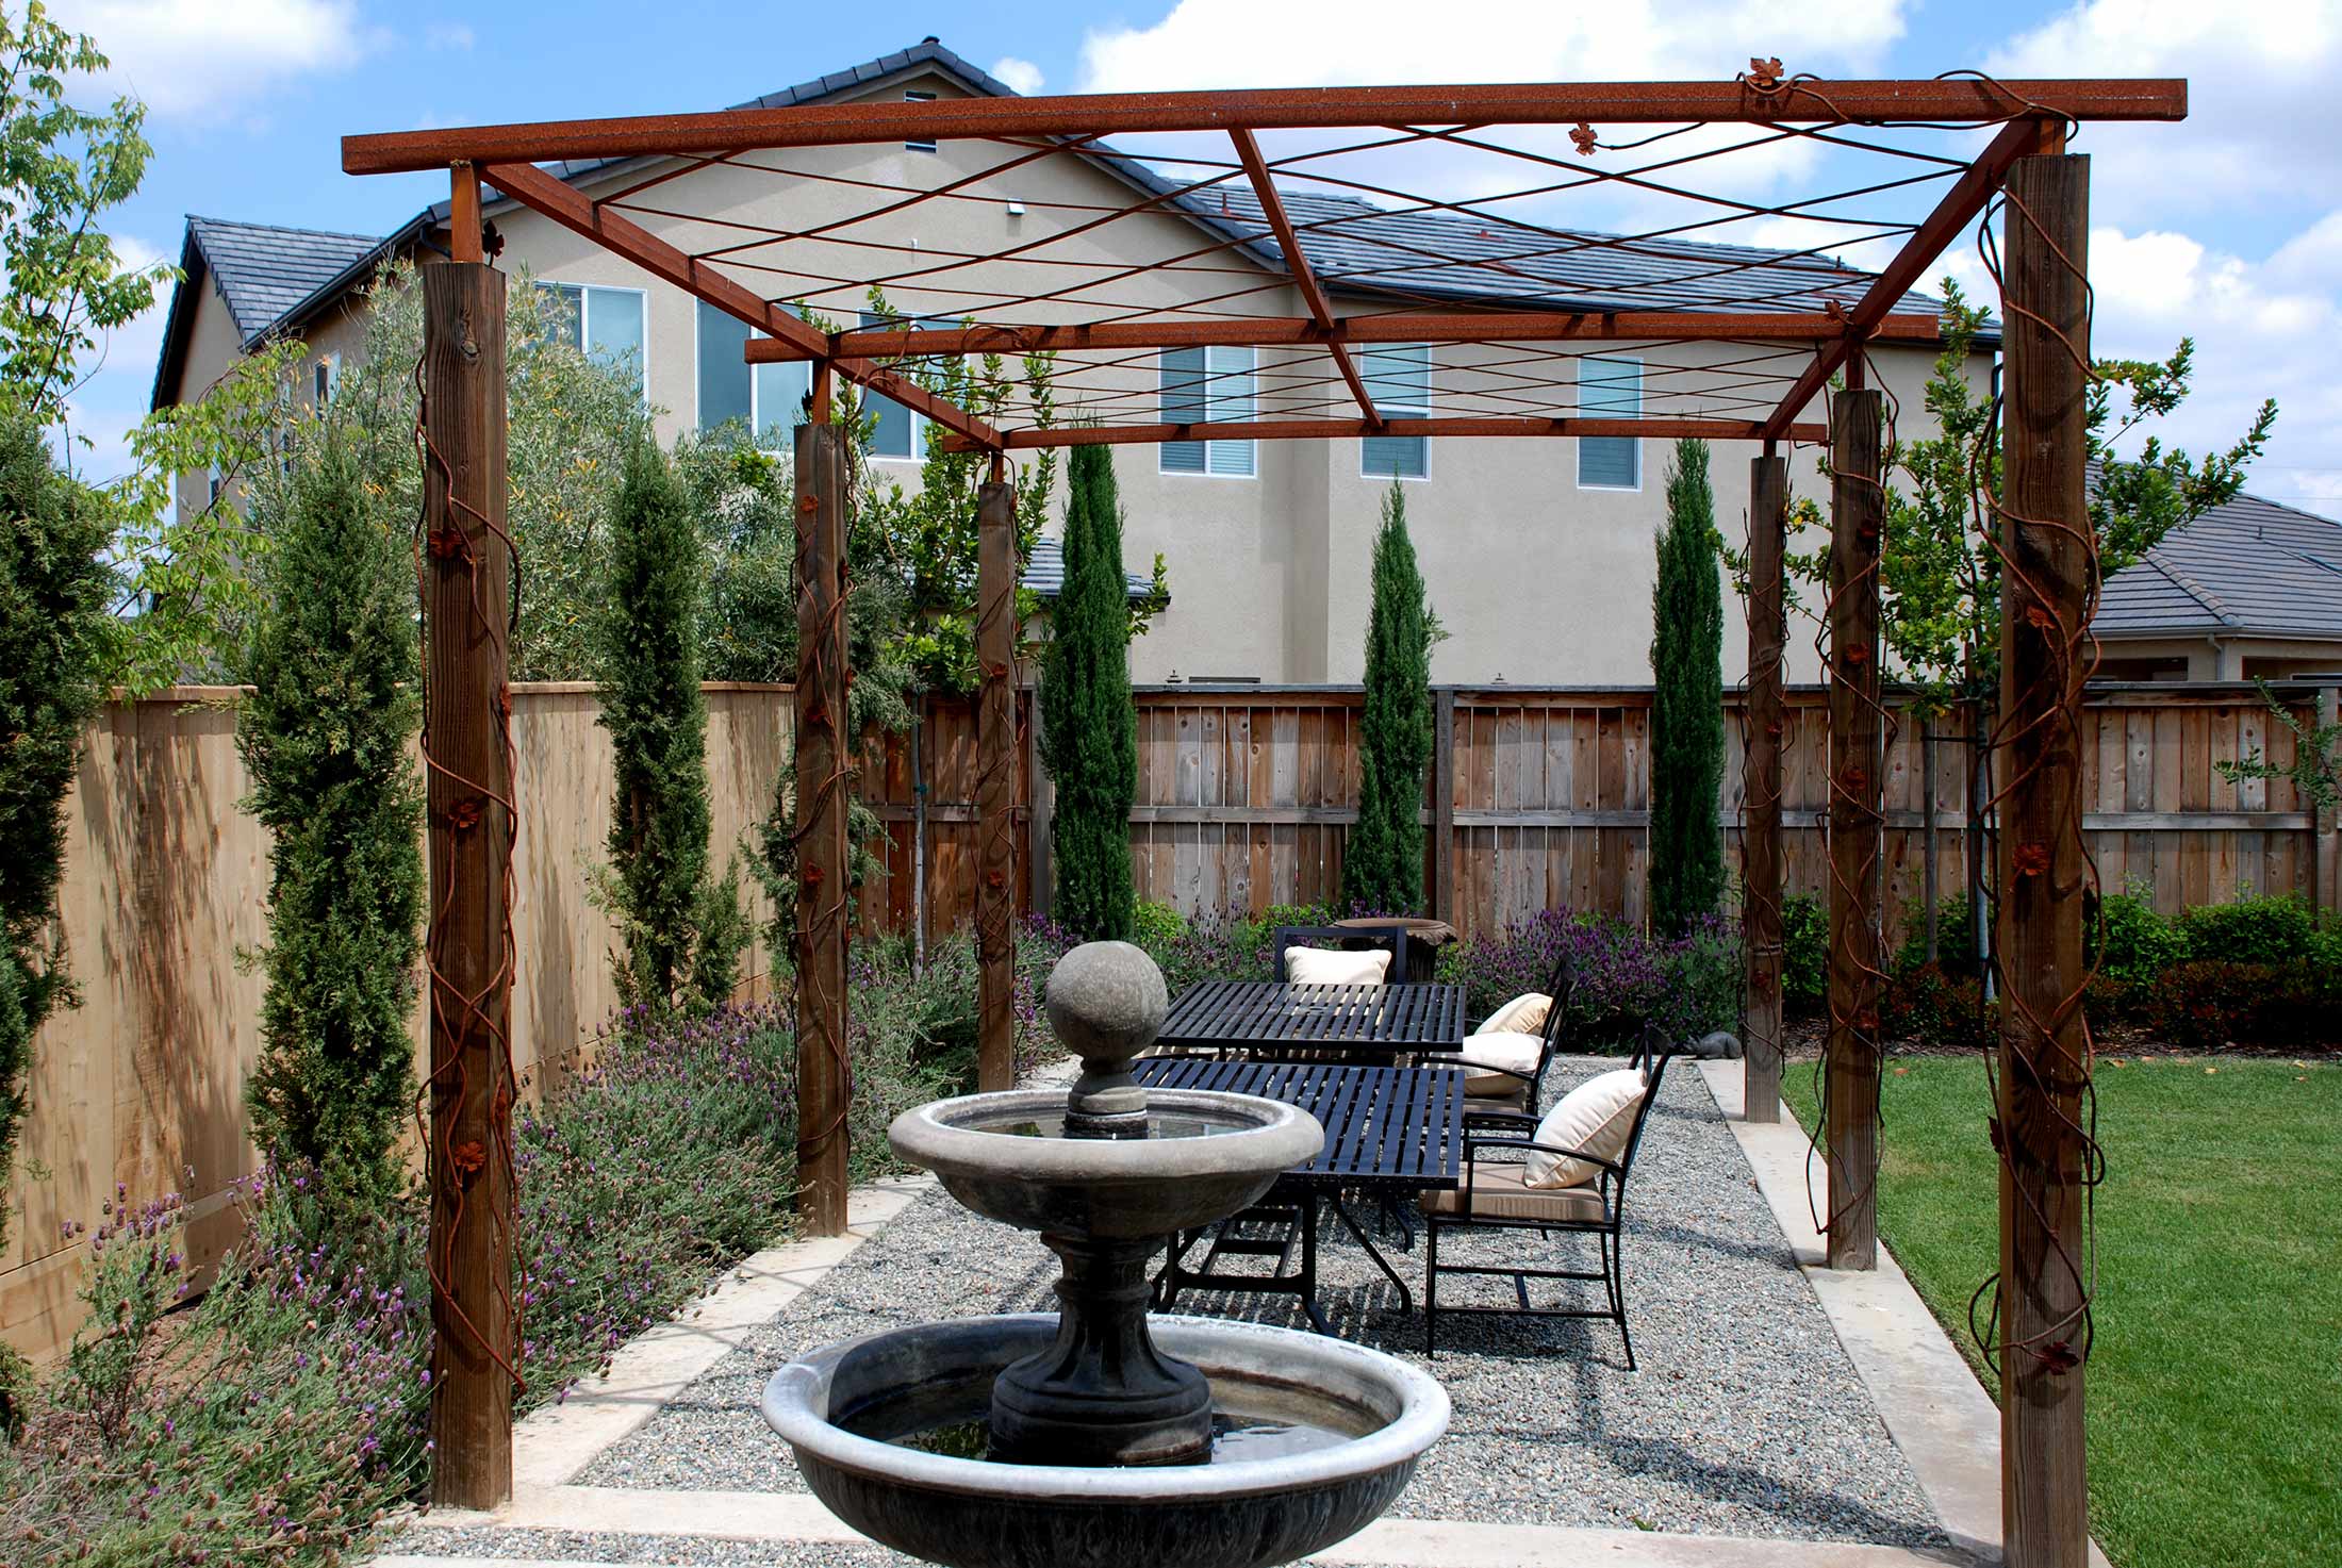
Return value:
[[(2309, 716), (2330, 688), (2288, 686)], [(1157, 686), (1138, 700), (1138, 805), (1131, 861), (1138, 894), (1185, 913), (1335, 899), (1342, 838), (1358, 807), (1358, 690)], [(66, 938), (82, 1006), (35, 1041), (30, 1116), (0, 1252), (0, 1332), (28, 1353), (77, 1322), (84, 1238), (119, 1182), (126, 1194), (192, 1198), (192, 1250), (234, 1236), (227, 1189), (253, 1168), (244, 1077), (258, 1053), (262, 978), (241, 955), (265, 938), (267, 840), (237, 810), (248, 782), (234, 749), (232, 690), (176, 690), (110, 704), (96, 721), (68, 805)], [(731, 854), (771, 800), (789, 730), (789, 693), (712, 686), (714, 850)], [(1728, 700), (1719, 821), (1735, 831), (1740, 723)], [(1817, 690), (1789, 695), (1785, 852), (1792, 889), (1824, 885), (1827, 711)], [(2330, 707), (2328, 707), (2330, 711)], [(1440, 747), (1424, 817), (1433, 903), (1459, 927), (1494, 929), (1541, 908), (1644, 906), (1649, 814), (1646, 688), (1440, 688)], [(604, 859), (611, 761), (590, 686), (515, 686), (520, 835), (513, 924), (520, 976), (513, 1039), (541, 1091), (576, 1060), (616, 1004), (611, 927), (588, 901)], [(1019, 721), (1028, 709), (1019, 709)], [(2337, 906), (2333, 824), (2312, 824), (2290, 784), (2230, 784), (2216, 763), (2293, 737), (2269, 723), (2251, 686), (2122, 686), (2087, 709), (2084, 819), (2108, 887), (2150, 892), (2164, 910), (2237, 892), (2302, 892)], [(1937, 871), (1963, 885), (1967, 747), (1958, 721), (1934, 756)], [(1047, 906), (1049, 784), (1021, 744), (1021, 901)], [(911, 737), (864, 747), (864, 800), (885, 826), (888, 875), (862, 889), (874, 929), (930, 936), (974, 903), (974, 716), (930, 702)], [(1923, 747), (1902, 723), (1888, 775), (1888, 924), (1923, 882)], [(925, 779), (920, 793), (918, 782)], [(913, 845), (925, 824), (925, 878)], [(766, 955), (752, 953), (747, 992)], [(417, 1048), (422, 1020), (417, 1018)], [(187, 1177), (187, 1170), (194, 1170)]]

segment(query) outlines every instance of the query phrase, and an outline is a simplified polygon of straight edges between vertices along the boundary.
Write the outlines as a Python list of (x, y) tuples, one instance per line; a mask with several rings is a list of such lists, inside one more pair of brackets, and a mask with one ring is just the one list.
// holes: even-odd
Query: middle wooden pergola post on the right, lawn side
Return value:
[(1878, 704), (1881, 396), (1841, 391), (1829, 419), (1829, 1266), (1878, 1266)]

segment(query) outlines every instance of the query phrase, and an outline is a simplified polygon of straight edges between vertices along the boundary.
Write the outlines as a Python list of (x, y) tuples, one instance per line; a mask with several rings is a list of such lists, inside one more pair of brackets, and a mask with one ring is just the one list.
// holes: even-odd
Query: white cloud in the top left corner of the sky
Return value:
[(351, 0), (61, 0), (56, 19), (98, 40), (108, 89), (185, 119), (265, 124), (269, 89), (347, 70), (384, 42)]

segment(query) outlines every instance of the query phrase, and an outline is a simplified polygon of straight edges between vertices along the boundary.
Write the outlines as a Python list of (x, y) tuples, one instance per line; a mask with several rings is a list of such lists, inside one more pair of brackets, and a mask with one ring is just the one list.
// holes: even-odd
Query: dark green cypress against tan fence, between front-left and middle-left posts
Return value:
[[(611, 506), (602, 594), (602, 728), (621, 990), (665, 1006), (691, 967), (707, 875), (707, 700), (700, 695), (700, 538), (665, 454), (644, 433)], [(717, 997), (721, 1002), (721, 997)]]

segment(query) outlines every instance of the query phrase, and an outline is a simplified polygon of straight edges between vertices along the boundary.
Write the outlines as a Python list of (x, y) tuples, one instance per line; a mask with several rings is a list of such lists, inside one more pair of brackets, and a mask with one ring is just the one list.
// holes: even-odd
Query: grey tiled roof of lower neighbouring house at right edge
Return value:
[(2342, 522), (2237, 496), (2110, 576), (2094, 630), (2342, 641)]

